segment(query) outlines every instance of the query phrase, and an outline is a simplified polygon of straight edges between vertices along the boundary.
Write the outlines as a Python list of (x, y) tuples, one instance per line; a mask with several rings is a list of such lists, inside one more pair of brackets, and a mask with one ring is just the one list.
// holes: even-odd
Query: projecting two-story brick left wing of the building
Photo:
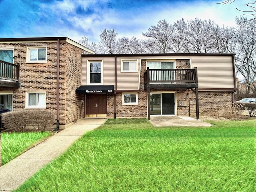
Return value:
[(82, 118), (82, 54), (94, 52), (66, 37), (1, 38), (1, 108), (48, 110), (60, 128)]

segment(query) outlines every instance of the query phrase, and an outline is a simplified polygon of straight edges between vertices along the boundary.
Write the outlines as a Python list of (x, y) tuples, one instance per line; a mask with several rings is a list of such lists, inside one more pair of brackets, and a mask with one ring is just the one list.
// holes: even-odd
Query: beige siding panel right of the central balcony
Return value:
[(198, 69), (198, 88), (235, 88), (232, 56), (192, 56)]

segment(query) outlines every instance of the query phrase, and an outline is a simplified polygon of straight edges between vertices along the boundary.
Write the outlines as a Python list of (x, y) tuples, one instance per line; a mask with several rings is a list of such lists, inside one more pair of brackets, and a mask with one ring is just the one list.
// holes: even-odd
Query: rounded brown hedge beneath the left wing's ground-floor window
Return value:
[(22, 132), (26, 126), (44, 131), (54, 123), (54, 115), (44, 110), (16, 110), (2, 114), (2, 122), (6, 128)]

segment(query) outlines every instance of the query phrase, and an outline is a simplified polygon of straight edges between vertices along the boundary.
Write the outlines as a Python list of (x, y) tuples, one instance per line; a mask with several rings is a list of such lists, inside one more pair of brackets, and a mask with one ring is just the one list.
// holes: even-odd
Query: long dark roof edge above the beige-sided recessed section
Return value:
[(82, 57), (122, 57), (122, 56), (235, 56), (234, 53), (149, 53), (149, 54), (94, 54), (94, 55), (82, 55)]

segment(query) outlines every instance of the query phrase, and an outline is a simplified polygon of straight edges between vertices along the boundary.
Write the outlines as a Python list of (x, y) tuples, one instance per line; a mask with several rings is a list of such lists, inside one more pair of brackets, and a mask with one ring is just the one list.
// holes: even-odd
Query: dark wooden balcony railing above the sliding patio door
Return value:
[(144, 72), (144, 84), (197, 83), (197, 69), (150, 69)]

